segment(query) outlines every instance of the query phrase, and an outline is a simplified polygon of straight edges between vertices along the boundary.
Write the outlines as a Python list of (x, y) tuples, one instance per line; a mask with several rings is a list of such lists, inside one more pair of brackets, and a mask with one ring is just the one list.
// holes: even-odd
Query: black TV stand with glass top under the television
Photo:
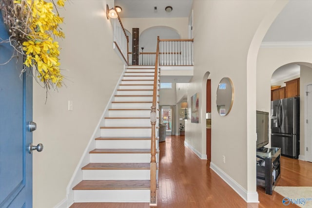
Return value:
[(272, 191), (281, 175), (281, 149), (266, 148), (266, 152), (256, 152), (257, 158), (257, 186), (265, 188), (265, 193), (272, 195)]

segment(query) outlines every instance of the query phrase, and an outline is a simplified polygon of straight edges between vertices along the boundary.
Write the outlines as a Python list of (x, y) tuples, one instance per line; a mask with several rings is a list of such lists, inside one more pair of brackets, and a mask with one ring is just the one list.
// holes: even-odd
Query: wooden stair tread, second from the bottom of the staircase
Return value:
[(151, 163), (89, 163), (82, 170), (150, 170)]

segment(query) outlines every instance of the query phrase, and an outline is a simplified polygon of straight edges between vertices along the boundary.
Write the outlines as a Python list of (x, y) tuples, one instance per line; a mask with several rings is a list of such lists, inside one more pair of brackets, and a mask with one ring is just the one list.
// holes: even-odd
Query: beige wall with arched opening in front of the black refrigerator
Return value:
[[(273, 72), (288, 63), (312, 63), (312, 48), (261, 48), (257, 60), (257, 110), (270, 112), (271, 77)], [(309, 67), (300, 68), (300, 158), (304, 157), (304, 95), (303, 83), (312, 82)], [(302, 79), (302, 80), (301, 80)], [(270, 112), (271, 113), (271, 112)], [(270, 129), (271, 133), (271, 129)], [(271, 141), (271, 140), (270, 140)], [(271, 142), (269, 143), (269, 146)], [(303, 159), (303, 158), (302, 158)]]

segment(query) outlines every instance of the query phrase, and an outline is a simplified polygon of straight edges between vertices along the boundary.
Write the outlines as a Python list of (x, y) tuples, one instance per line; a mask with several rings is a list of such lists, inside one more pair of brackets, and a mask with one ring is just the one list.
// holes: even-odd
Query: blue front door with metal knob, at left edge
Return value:
[[(0, 42), (9, 38), (0, 13)], [(13, 54), (0, 43), (0, 64)], [(0, 208), (32, 208), (32, 76), (23, 69), (22, 57), (0, 65)]]

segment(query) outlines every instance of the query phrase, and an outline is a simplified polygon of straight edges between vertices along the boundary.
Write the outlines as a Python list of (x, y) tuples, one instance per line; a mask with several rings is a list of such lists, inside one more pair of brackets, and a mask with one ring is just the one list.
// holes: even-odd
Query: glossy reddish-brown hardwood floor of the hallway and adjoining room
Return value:
[[(157, 208), (282, 208), (283, 196), (265, 194), (257, 187), (260, 203), (246, 203), (213, 170), (184, 146), (184, 136), (160, 142)], [(299, 170), (299, 173), (295, 170)], [(312, 163), (281, 158), (278, 186), (312, 186)], [(149, 208), (148, 203), (75, 203), (71, 208)], [(289, 205), (287, 208), (298, 208)]]

